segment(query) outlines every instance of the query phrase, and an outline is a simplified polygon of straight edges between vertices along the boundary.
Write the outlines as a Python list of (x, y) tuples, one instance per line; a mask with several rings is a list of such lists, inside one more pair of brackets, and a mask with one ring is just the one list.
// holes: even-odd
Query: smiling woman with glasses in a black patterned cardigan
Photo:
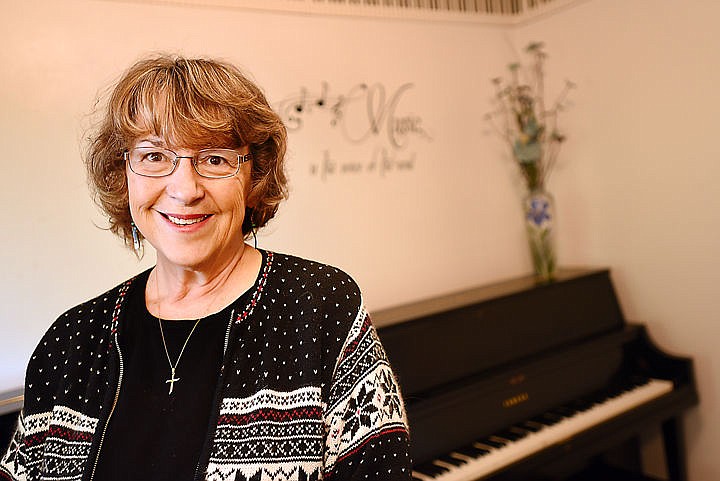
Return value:
[(286, 193), (286, 132), (213, 60), (115, 87), (86, 164), (110, 230), (157, 264), (52, 325), (0, 478), (409, 479), (397, 384), (357, 285), (245, 243)]

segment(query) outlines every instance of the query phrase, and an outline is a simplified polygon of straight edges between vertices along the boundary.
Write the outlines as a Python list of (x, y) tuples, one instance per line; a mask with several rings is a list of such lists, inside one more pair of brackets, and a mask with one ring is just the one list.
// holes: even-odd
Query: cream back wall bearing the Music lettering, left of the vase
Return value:
[(522, 225), (507, 222), (520, 215), (512, 166), (481, 135), (478, 92), (507, 57), (502, 30), (97, 0), (0, 5), (0, 391), (21, 384), (57, 315), (152, 265), (96, 227), (105, 223), (80, 160), (98, 92), (149, 52), (226, 58), (273, 103), (322, 81), (336, 95), (366, 82), (389, 96), (413, 83), (398, 110), (432, 137), (396, 153), (414, 154), (414, 170), (311, 176), (325, 150), (368, 162), (387, 139), (350, 144), (327, 116), (306, 118), (290, 135), (290, 201), (261, 247), (341, 266), (371, 309), (525, 271)]

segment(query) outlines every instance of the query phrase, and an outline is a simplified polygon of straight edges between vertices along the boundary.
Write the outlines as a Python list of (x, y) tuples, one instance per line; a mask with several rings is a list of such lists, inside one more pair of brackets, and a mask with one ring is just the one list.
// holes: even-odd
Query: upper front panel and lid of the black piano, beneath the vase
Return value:
[[(621, 329), (607, 270), (522, 277), (372, 313), (406, 395)], [(418, 356), (418, 353), (422, 353)]]

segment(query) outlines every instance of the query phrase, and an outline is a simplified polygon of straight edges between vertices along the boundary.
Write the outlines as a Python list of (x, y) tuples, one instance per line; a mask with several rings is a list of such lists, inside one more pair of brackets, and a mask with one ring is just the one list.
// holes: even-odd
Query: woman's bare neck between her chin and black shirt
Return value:
[(148, 311), (162, 319), (195, 319), (221, 311), (252, 287), (262, 254), (246, 244), (212, 266), (178, 266), (158, 257), (145, 288)]

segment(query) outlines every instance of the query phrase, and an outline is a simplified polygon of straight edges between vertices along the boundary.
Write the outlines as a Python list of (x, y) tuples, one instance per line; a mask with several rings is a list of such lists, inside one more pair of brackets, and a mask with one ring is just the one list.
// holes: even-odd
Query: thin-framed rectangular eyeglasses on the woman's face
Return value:
[(135, 147), (123, 152), (130, 170), (144, 177), (165, 177), (175, 172), (180, 159), (191, 159), (195, 172), (208, 179), (232, 177), (240, 165), (250, 160), (250, 154), (231, 149), (203, 149), (193, 156), (178, 155), (161, 147)]

